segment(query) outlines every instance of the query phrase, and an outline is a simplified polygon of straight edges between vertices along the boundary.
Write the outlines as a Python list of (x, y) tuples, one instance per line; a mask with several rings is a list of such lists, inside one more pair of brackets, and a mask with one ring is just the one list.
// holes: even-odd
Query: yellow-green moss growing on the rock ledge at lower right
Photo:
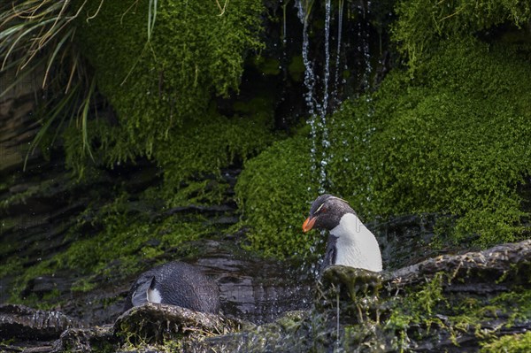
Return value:
[(401, 351), (407, 350), (411, 341), (434, 340), (436, 343), (443, 334), (455, 346), (459, 345), (458, 337), (464, 334), (490, 342), (496, 335), (510, 329), (515, 322), (509, 320), (503, 325), (491, 326), (489, 322), (493, 318), (507, 315), (519, 317), (516, 322), (527, 322), (531, 318), (527, 302), (530, 295), (528, 289), (514, 288), (511, 292), (495, 296), (452, 294), (443, 292), (443, 282), (451, 281), (447, 277), (446, 273), (439, 273), (427, 284), (410, 288), (404, 295), (385, 300), (387, 303), (384, 307), (392, 310), (382, 326), (387, 334), (399, 337), (396, 343)]

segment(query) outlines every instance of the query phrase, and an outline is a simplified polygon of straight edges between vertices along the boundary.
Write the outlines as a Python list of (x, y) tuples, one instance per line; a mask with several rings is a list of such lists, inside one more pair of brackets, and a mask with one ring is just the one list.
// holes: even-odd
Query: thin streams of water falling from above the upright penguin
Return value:
[[(329, 153), (330, 140), (328, 135), (327, 119), (334, 113), (334, 110), (341, 104), (340, 90), (343, 83), (340, 79), (342, 75), (342, 26), (343, 26), (343, 7), (344, 0), (337, 3), (335, 9), (336, 18), (335, 26), (337, 26), (336, 38), (331, 38), (331, 22), (332, 22), (332, 5), (331, 0), (325, 3), (325, 26), (323, 36), (323, 55), (312, 53), (312, 42), (310, 41), (310, 27), (312, 14), (317, 12), (313, 6), (312, 0), (297, 0), (296, 10), (301, 23), (303, 24), (303, 45), (302, 57), (304, 63), (304, 101), (307, 107), (308, 120), (307, 123), (311, 127), (312, 145), (310, 150), (310, 163), (312, 173), (315, 173), (318, 179), (317, 190), (309, 188), (310, 194), (322, 194), (329, 188), (329, 181), (327, 179), (327, 165), (330, 164), (331, 155)], [(315, 4), (316, 5), (316, 4)], [(317, 5), (316, 5), (317, 6)], [(371, 12), (371, 3), (358, 4), (356, 10), (358, 11), (358, 23), (356, 24), (356, 49), (359, 55), (357, 81), (359, 91), (366, 91), (370, 88), (370, 77), (373, 71), (371, 65), (370, 52), (370, 33), (366, 29), (366, 18)], [(313, 12), (313, 13), (312, 13)], [(330, 45), (335, 39), (336, 50), (335, 60), (330, 60)], [(315, 44), (314, 44), (315, 45)], [(315, 51), (315, 50), (314, 50)], [(312, 55), (313, 54), (313, 55)], [(322, 65), (316, 65), (315, 58), (323, 58)], [(347, 58), (348, 59), (348, 58)], [(335, 70), (331, 69), (331, 65), (335, 65)], [(346, 69), (347, 67), (345, 67)], [(331, 73), (334, 73), (333, 81), (331, 81)], [(330, 87), (332, 88), (330, 91)], [(358, 95), (358, 94), (357, 94)], [(317, 191), (317, 193), (315, 192)]]

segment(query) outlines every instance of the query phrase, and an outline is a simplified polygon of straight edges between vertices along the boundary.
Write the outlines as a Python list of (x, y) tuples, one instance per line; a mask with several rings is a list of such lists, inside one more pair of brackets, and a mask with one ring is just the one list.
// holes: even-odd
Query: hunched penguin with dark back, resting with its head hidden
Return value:
[(170, 262), (140, 275), (129, 290), (124, 311), (148, 302), (217, 314), (219, 288), (195, 266)]

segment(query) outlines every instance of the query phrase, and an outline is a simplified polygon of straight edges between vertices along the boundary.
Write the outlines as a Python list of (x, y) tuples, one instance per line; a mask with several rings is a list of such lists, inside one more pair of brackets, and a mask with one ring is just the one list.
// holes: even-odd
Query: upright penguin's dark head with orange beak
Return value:
[(346, 213), (354, 213), (349, 203), (329, 194), (323, 194), (315, 199), (310, 208), (310, 215), (304, 221), (303, 232), (316, 229), (334, 229)]

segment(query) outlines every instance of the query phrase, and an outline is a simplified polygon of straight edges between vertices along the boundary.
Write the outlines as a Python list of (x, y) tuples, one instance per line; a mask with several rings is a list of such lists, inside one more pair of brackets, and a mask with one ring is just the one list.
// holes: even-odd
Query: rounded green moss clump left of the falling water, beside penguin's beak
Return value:
[(249, 249), (266, 256), (290, 257), (306, 252), (313, 242), (301, 226), (315, 189), (310, 141), (296, 136), (250, 159), (235, 187), (236, 197), (252, 229)]

